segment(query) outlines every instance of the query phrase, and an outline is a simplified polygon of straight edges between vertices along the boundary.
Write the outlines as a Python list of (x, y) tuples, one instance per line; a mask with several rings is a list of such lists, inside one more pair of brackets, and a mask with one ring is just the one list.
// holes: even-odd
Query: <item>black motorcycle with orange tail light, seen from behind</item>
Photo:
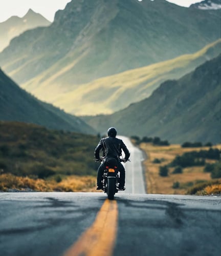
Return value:
[[(107, 193), (107, 198), (110, 200), (114, 199), (115, 193), (118, 193), (119, 189), (119, 170), (118, 161), (114, 157), (100, 157), (101, 162), (105, 163), (105, 169), (103, 173), (102, 190)], [(130, 160), (127, 160), (130, 161)], [(120, 159), (120, 162), (126, 162)]]

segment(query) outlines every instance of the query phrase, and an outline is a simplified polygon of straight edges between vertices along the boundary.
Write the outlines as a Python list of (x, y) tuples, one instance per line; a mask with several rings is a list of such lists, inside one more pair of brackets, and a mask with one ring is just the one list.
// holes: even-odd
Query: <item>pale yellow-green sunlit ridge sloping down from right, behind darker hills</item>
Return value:
[(220, 52), (221, 40), (218, 40), (194, 54), (186, 54), (169, 61), (102, 77), (91, 83), (70, 86), (69, 89), (65, 88), (64, 92), (64, 88), (56, 84), (56, 78), (62, 71), (68, 69), (65, 66), (48, 80), (43, 78), (46, 74), (38, 76), (36, 88), (31, 86), (36, 81), (26, 83), (23, 87), (31, 90), (40, 99), (52, 102), (71, 113), (78, 115), (112, 113), (145, 99), (162, 82), (180, 78)]

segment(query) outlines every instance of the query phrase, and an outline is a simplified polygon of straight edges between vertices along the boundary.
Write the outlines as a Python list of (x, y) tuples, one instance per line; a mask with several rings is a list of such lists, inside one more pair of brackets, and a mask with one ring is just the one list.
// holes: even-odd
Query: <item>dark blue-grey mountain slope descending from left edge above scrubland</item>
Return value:
[(38, 101), (34, 96), (20, 89), (1, 69), (0, 109), (1, 121), (19, 121), (51, 129), (95, 133), (93, 128), (78, 117)]

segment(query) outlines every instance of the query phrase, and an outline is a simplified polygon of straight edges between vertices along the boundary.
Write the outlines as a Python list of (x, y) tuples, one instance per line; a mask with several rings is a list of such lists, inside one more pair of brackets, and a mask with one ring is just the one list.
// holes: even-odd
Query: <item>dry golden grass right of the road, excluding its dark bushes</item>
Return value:
[[(170, 146), (153, 146), (149, 143), (142, 143), (141, 149), (147, 154), (147, 160), (144, 162), (146, 173), (146, 184), (148, 193), (157, 194), (186, 194), (188, 186), (195, 184), (198, 181), (210, 181), (210, 173), (204, 172), (204, 166), (194, 166), (183, 169), (183, 173), (172, 174), (173, 168), (169, 168), (169, 175), (162, 177), (159, 175), (160, 166), (169, 164), (176, 155), (182, 155), (189, 151), (208, 150), (208, 147), (201, 148), (182, 148), (181, 145)], [(160, 159), (160, 164), (153, 163), (154, 159)], [(209, 161), (214, 162), (214, 161)], [(173, 183), (179, 182), (180, 188), (172, 188)], [(213, 185), (215, 186), (215, 185)], [(211, 193), (212, 187), (208, 186), (206, 191)], [(217, 190), (217, 188), (215, 187)]]

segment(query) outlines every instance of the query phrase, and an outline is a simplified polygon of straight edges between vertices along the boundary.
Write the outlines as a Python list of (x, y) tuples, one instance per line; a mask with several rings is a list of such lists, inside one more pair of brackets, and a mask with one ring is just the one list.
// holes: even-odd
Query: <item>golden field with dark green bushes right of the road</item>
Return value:
[(221, 194), (220, 145), (139, 145), (147, 154), (144, 166), (148, 193)]

